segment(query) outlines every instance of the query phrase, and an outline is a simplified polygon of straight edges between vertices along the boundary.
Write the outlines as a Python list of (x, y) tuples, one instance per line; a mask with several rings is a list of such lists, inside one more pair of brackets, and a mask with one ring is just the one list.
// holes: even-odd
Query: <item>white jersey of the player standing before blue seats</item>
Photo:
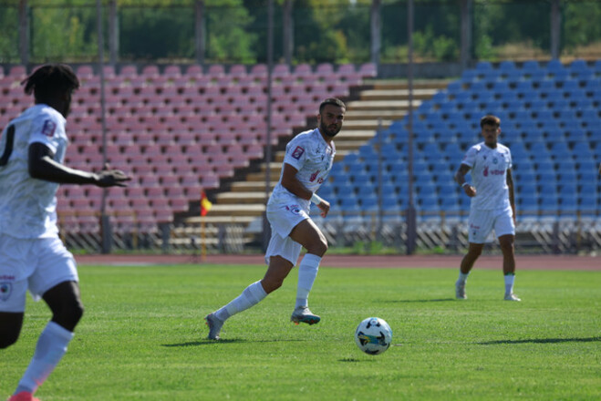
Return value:
[(481, 142), (472, 146), (461, 161), (471, 167), (471, 185), (476, 196), (471, 198), (471, 209), (478, 211), (503, 211), (511, 206), (507, 170), (512, 168), (512, 153), (497, 143), (491, 149)]

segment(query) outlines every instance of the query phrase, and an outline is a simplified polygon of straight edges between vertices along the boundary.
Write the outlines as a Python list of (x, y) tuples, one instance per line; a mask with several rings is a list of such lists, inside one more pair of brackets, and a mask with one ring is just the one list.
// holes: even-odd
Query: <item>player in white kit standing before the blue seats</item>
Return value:
[[(497, 142), (501, 133), (501, 119), (484, 116), (480, 120), (484, 141), (472, 146), (455, 180), (465, 194), (471, 197), (469, 218), (468, 253), (461, 261), (459, 279), (455, 283), (457, 299), (467, 299), (465, 283), (473, 263), (482, 253), (486, 237), (494, 229), (503, 252), (503, 274), (505, 280), (505, 301), (520, 301), (513, 294), (515, 280), (515, 201), (513, 197), (512, 153), (509, 148)], [(471, 184), (465, 175), (471, 170)]]

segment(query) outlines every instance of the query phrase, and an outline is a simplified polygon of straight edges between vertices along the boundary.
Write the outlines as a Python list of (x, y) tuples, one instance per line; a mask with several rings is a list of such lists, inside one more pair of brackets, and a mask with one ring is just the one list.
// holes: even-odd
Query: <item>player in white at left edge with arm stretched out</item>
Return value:
[(34, 393), (67, 352), (83, 314), (73, 255), (58, 238), (59, 183), (124, 186), (119, 170), (98, 174), (63, 166), (66, 118), (79, 87), (71, 67), (46, 65), (23, 81), (36, 104), (11, 120), (0, 137), (0, 348), (15, 344), (23, 325), (27, 289), (44, 299), (52, 319), (9, 401)]

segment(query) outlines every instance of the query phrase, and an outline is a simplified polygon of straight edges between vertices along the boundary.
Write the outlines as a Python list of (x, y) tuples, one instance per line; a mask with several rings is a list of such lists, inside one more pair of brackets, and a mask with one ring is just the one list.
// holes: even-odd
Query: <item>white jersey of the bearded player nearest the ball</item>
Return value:
[(334, 141), (328, 145), (326, 140), (321, 136), (319, 129), (301, 132), (295, 136), (285, 147), (285, 157), (284, 163), (282, 163), (282, 171), (280, 172), (280, 180), (275, 185), (274, 192), (267, 204), (298, 202), (303, 209), (308, 211), (311, 205), (310, 200), (298, 198), (282, 186), (284, 165), (287, 163), (298, 170), (296, 179), (307, 190), (315, 193), (321, 187), (321, 184), (324, 183), (327, 174), (332, 169), (335, 155), (336, 147), (334, 146)]

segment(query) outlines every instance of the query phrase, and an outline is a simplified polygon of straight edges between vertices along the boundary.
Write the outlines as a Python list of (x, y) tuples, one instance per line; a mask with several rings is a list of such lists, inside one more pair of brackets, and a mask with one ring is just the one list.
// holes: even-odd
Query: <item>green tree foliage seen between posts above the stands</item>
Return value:
[[(108, 5), (102, 0), (105, 46)], [(193, 61), (197, 0), (115, 0), (119, 59)], [(283, 4), (274, 0), (275, 61), (283, 57)], [(365, 62), (370, 57), (372, 0), (292, 0), (294, 63)], [(256, 63), (267, 58), (268, 0), (204, 0), (207, 62)], [(383, 62), (406, 60), (408, 0), (381, 0)], [(30, 61), (94, 61), (98, 54), (97, 0), (27, 0)], [(460, 2), (415, 0), (414, 50), (417, 59), (453, 61), (461, 43)], [(473, 57), (493, 59), (503, 46), (532, 46), (548, 54), (548, 0), (473, 0)], [(601, 42), (601, 4), (562, 0), (561, 46), (579, 48)], [(18, 1), (0, 0), (0, 62), (19, 62)], [(108, 49), (108, 48), (107, 48)]]

